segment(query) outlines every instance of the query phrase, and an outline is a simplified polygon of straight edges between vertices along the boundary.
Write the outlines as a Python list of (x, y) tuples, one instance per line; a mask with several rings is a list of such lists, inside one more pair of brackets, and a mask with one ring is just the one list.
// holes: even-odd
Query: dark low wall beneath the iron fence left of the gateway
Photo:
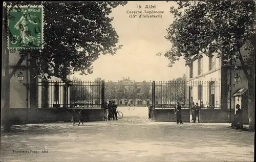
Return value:
[[(75, 121), (77, 121), (76, 113), (79, 112), (79, 108), (75, 109), (63, 109), (63, 108), (30, 108), (28, 111), (27, 121), (27, 109), (26, 108), (10, 108), (10, 120), (12, 125), (28, 124), (32, 123), (48, 123), (48, 122), (71, 122), (72, 115)], [(103, 121), (104, 110), (101, 108), (84, 108), (83, 109), (87, 121)], [(4, 124), (4, 118), (1, 119), (1, 125)]]

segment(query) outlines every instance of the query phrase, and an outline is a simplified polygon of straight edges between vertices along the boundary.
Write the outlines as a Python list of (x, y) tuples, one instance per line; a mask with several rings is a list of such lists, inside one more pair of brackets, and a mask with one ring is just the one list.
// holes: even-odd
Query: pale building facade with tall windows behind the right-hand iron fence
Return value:
[[(203, 56), (187, 66), (186, 78), (194, 84), (188, 89), (191, 102), (203, 104), (204, 108), (220, 108), (221, 58)], [(196, 82), (196, 83), (194, 83)]]

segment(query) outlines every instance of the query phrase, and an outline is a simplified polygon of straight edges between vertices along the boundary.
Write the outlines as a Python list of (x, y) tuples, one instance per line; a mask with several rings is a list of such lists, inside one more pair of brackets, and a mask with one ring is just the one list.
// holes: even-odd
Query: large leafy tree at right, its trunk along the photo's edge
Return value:
[[(227, 62), (239, 60), (250, 87), (249, 129), (254, 130), (255, 1), (177, 1), (177, 5), (170, 8), (175, 19), (165, 36), (173, 45), (164, 54), (169, 66), (180, 57), (188, 65), (213, 53)], [(247, 56), (242, 50), (248, 51)]]

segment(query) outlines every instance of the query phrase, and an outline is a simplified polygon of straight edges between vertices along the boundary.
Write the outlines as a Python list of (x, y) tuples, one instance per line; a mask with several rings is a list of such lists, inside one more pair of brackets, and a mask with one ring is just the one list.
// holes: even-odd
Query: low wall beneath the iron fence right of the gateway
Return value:
[[(182, 109), (182, 122), (190, 122), (190, 110)], [(230, 123), (234, 119), (234, 111), (221, 109), (201, 109), (200, 122), (201, 123)], [(176, 122), (176, 115), (174, 109), (156, 108), (153, 109), (154, 122)]]

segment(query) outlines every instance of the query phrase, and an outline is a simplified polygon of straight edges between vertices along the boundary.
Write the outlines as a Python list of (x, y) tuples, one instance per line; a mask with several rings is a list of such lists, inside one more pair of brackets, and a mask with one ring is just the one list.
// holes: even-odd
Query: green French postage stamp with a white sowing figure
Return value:
[(9, 49), (43, 48), (43, 6), (8, 6), (7, 15)]

